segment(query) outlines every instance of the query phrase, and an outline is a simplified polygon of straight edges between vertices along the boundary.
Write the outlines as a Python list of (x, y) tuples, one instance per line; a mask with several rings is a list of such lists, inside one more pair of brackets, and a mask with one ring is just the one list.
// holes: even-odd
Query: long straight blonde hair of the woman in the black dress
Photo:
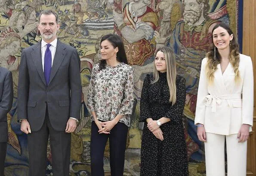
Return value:
[[(169, 102), (172, 102), (172, 105), (176, 103), (176, 60), (173, 50), (167, 46), (163, 46), (157, 49), (157, 52), (163, 52), (166, 61), (167, 67), (167, 83), (170, 92)], [(157, 82), (159, 79), (159, 74), (157, 68), (154, 64), (154, 79), (151, 82), (152, 84)]]

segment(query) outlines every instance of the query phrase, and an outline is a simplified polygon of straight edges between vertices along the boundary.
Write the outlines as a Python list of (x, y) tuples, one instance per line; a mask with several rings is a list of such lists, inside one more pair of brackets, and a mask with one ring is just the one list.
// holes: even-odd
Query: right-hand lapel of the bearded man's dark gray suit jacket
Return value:
[(51, 70), (49, 84), (51, 83), (52, 79), (56, 75), (59, 69), (59, 66), (61, 65), (62, 61), (65, 58), (66, 52), (64, 49), (65, 49), (65, 45), (63, 45), (63, 43), (58, 40), (55, 56), (52, 63), (52, 70)]

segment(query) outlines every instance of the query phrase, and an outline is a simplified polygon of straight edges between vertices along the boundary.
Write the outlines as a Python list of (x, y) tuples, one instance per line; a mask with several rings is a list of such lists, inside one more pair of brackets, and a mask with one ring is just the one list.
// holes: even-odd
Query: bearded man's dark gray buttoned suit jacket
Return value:
[(46, 106), (55, 130), (65, 130), (70, 117), (80, 118), (80, 58), (77, 50), (58, 40), (49, 85), (46, 85), (41, 42), (22, 50), (19, 67), (18, 121), (28, 120), (31, 130), (43, 125)]

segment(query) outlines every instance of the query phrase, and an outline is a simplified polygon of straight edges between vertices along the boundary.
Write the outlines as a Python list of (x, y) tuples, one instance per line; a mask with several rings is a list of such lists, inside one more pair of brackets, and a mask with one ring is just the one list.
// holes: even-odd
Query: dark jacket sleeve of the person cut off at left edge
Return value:
[(13, 88), (12, 72), (8, 72), (3, 84), (3, 95), (0, 102), (0, 121), (7, 121), (6, 115), (12, 108)]

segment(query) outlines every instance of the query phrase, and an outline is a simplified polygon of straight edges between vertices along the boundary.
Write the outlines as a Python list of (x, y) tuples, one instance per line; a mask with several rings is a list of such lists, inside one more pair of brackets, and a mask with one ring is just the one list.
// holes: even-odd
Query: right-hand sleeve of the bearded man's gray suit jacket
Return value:
[(70, 86), (70, 116), (80, 119), (80, 108), (82, 99), (82, 85), (80, 78), (80, 57), (77, 50), (73, 50), (69, 65), (69, 86)]

